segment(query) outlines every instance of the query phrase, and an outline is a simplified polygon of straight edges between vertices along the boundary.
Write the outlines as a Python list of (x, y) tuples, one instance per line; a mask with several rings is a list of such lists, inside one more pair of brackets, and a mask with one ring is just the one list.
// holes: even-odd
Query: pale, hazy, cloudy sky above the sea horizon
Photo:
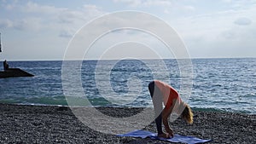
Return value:
[[(191, 58), (256, 57), (253, 0), (0, 0), (0, 60), (63, 60), (73, 36), (84, 26), (103, 14), (124, 10), (152, 14), (165, 21), (183, 40)], [(138, 59), (156, 58), (144, 55), (147, 45), (162, 58), (173, 57), (152, 35), (123, 30), (102, 37), (86, 59), (105, 54), (111, 48), (110, 41), (114, 49), (119, 42), (132, 41)], [(126, 52), (131, 49), (129, 44), (118, 46), (125, 46)], [(121, 51), (108, 53), (108, 59), (119, 59)]]

